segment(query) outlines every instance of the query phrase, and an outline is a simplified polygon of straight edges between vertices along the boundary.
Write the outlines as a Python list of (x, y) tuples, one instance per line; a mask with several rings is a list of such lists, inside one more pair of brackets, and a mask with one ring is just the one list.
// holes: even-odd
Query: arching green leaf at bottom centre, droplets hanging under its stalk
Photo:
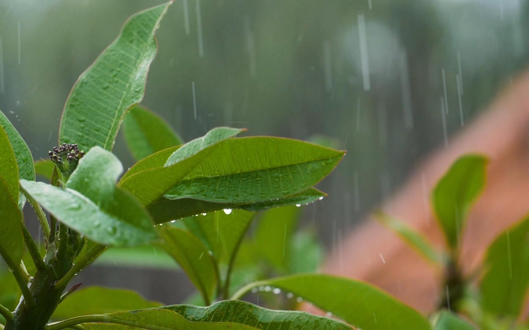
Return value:
[(430, 329), (430, 323), (415, 309), (370, 284), (349, 278), (299, 274), (254, 282), (234, 296), (252, 287), (272, 286), (303, 297), (315, 306), (331, 312), (355, 327), (369, 330)]

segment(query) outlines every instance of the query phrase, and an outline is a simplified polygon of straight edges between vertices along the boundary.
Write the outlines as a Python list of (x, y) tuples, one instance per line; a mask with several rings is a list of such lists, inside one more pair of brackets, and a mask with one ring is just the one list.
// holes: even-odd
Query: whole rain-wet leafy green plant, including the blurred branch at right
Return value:
[[(377, 330), (517, 324), (529, 278), (524, 266), (529, 265), (527, 221), (492, 244), (480, 297), (469, 298), (471, 281), (458, 268), (458, 234), (484, 185), (486, 160), (480, 156), (460, 159), (434, 190), (447, 253), (380, 214), (426, 258), (446, 267), (446, 286), (454, 294), (440, 306), (451, 303), (452, 312), (467, 314), (467, 320), (447, 310), (428, 320), (371, 285), (307, 272), (317, 262), (309, 267), (297, 263), (296, 254), (308, 261), (321, 256), (310, 234), (294, 234), (297, 206), (325, 196), (313, 186), (345, 152), (286, 138), (236, 137), (244, 129), (230, 127), (184, 143), (159, 116), (139, 106), (157, 52), (154, 34), (170, 5), (131, 16), (81, 74), (66, 101), (59, 145), (50, 147), (49, 160), (34, 162), (0, 112), (0, 256), (10, 270), (0, 274), (0, 329)], [(122, 124), (137, 161), (125, 173), (112, 154)], [(46, 182), (36, 181), (36, 173)], [(44, 249), (26, 228), (26, 202), (40, 222)], [(70, 284), (102, 253), (138, 247), (163, 250), (178, 263), (197, 289), (190, 300), (194, 304), (162, 306), (132, 291)], [(241, 280), (235, 268), (260, 280)], [(270, 274), (278, 277), (264, 279)], [(284, 309), (309, 301), (332, 317), (240, 300), (258, 290), (283, 295)]]

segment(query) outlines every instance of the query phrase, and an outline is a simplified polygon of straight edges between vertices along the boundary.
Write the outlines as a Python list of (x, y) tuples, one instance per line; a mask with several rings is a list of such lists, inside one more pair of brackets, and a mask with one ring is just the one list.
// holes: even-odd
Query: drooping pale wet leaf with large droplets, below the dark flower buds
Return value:
[(105, 245), (133, 246), (156, 238), (152, 220), (132, 196), (115, 189), (112, 200), (97, 205), (79, 192), (21, 180), (26, 191), (59, 221)]

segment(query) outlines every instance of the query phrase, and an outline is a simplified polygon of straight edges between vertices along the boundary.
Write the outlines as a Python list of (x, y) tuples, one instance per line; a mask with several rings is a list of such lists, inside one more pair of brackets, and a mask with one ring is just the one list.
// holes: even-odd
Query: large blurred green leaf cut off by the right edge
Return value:
[(496, 238), (484, 265), (482, 307), (501, 316), (518, 316), (529, 285), (529, 218)]

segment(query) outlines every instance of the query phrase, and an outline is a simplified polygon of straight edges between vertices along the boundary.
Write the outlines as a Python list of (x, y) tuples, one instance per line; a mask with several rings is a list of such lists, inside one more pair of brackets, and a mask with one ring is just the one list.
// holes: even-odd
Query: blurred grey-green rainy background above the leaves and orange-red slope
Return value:
[[(35, 159), (57, 144), (79, 74), (127, 17), (158, 3), (0, 0), (0, 109)], [(522, 0), (176, 0), (143, 104), (186, 140), (221, 125), (338, 140), (348, 155), (319, 186), (330, 197), (303, 216), (331, 246), (524, 68), (527, 14)], [(114, 152), (133, 164), (121, 134)], [(190, 292), (182, 274), (130, 274), (81, 277), (171, 303)]]

